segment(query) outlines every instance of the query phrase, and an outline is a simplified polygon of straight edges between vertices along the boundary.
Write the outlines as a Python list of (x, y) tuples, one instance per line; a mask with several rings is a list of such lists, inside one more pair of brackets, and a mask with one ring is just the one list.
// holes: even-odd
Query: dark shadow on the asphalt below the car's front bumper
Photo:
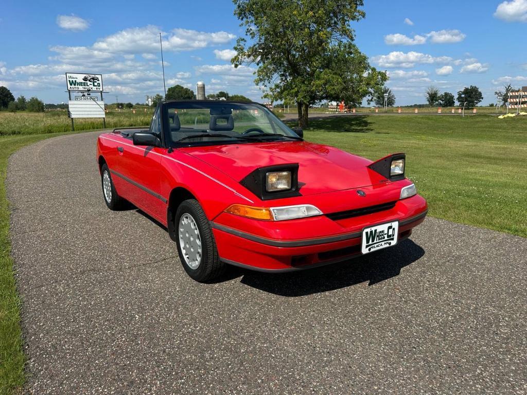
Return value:
[(321, 268), (282, 274), (243, 270), (241, 283), (285, 297), (299, 297), (333, 291), (368, 281), (374, 285), (391, 279), (417, 261), (425, 251), (412, 240), (393, 248)]

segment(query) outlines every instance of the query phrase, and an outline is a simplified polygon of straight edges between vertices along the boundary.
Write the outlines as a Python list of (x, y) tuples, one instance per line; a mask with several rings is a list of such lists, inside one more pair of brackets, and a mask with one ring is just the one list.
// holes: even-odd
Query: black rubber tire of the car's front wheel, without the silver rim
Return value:
[[(185, 214), (190, 215), (196, 223), (201, 240), (201, 258), (195, 269), (191, 268), (187, 263), (181, 249), (181, 239), (179, 236), (180, 220)], [(185, 200), (179, 205), (174, 216), (174, 232), (176, 244), (178, 245), (179, 259), (183, 265), (183, 269), (185, 269), (192, 279), (199, 282), (208, 282), (223, 274), (226, 264), (220, 261), (209, 220), (197, 200)]]

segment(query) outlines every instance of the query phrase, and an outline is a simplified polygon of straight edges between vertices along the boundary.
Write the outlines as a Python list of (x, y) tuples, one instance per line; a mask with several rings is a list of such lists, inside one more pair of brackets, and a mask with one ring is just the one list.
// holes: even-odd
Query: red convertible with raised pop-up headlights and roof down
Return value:
[(427, 212), (404, 154), (372, 162), (309, 143), (257, 103), (160, 103), (149, 129), (101, 134), (97, 163), (106, 205), (167, 226), (197, 281), (226, 264), (275, 273), (378, 251)]

